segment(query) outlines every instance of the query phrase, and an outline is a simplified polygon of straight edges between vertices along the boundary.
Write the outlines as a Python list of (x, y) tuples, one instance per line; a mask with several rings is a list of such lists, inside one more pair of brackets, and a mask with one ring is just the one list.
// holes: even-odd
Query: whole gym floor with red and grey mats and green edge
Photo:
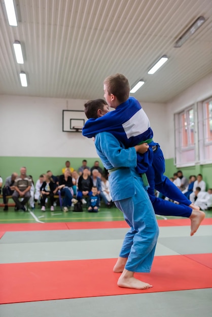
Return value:
[(211, 316), (212, 211), (193, 237), (188, 219), (157, 219), (153, 288), (131, 292), (113, 272), (127, 231), (118, 209), (0, 207), (0, 316)]

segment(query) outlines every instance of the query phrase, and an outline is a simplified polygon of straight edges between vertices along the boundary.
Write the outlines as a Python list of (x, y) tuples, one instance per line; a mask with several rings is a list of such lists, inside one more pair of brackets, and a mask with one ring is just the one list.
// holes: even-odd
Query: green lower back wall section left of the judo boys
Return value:
[[(51, 170), (53, 175), (61, 175), (62, 168), (65, 167), (65, 161), (70, 161), (70, 166), (78, 170), (82, 166), (82, 157), (31, 157), (31, 156), (0, 156), (0, 175), (5, 181), (6, 177), (10, 176), (13, 172), (19, 174), (20, 168), (25, 166), (27, 174), (32, 175), (33, 180), (37, 181), (40, 174), (46, 173)], [(87, 165), (91, 168), (94, 161), (101, 161), (98, 157), (86, 159)]]

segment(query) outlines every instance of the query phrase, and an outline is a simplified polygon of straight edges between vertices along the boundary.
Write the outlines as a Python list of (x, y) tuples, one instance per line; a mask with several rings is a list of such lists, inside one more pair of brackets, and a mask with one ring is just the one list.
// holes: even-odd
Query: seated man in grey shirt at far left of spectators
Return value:
[[(26, 176), (25, 167), (20, 169), (20, 174), (21, 175), (15, 179), (15, 191), (12, 197), (17, 206), (17, 210), (22, 209), (23, 211), (26, 211), (24, 205), (30, 198), (31, 178)], [(19, 197), (23, 198), (22, 202), (19, 201)]]

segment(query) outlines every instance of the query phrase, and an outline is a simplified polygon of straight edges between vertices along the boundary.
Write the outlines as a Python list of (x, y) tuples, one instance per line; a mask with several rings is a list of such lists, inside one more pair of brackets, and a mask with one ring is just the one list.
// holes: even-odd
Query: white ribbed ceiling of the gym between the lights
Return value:
[[(102, 98), (104, 78), (121, 72), (130, 85), (145, 80), (137, 99), (167, 102), (212, 71), (211, 0), (18, 0), (17, 27), (0, 2), (0, 94)], [(174, 48), (199, 16), (206, 22)], [(15, 40), (23, 65), (15, 60)], [(148, 75), (164, 54), (169, 60)]]

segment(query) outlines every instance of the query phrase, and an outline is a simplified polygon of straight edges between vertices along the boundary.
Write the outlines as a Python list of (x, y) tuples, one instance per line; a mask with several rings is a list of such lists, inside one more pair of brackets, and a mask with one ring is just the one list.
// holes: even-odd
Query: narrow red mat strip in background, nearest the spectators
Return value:
[[(189, 219), (158, 220), (159, 227), (190, 226)], [(212, 224), (212, 218), (205, 218), (201, 225)], [(46, 223), (3, 223), (0, 231), (36, 231), (36, 230), (76, 230), (76, 229), (107, 229), (128, 228), (122, 221), (91, 221), (91, 222), (46, 222)]]

